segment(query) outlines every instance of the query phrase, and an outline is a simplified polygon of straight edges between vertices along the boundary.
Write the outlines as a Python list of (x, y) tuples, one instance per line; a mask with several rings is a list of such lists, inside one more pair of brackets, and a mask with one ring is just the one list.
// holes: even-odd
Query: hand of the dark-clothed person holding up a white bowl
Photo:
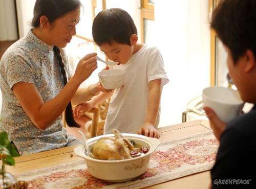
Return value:
[(217, 116), (213, 109), (209, 107), (204, 107), (203, 109), (210, 121), (210, 127), (212, 131), (214, 131), (216, 138), (220, 140), (221, 134), (225, 130), (227, 124)]

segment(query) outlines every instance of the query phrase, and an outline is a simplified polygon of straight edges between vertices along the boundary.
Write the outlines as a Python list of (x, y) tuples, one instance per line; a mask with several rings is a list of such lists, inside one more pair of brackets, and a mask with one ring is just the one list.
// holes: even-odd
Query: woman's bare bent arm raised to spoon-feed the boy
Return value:
[(47, 129), (65, 110), (79, 85), (97, 68), (95, 56), (95, 53), (91, 53), (82, 58), (77, 65), (74, 77), (55, 98), (47, 102), (42, 100), (34, 84), (18, 82), (13, 85), (14, 95), (38, 129)]

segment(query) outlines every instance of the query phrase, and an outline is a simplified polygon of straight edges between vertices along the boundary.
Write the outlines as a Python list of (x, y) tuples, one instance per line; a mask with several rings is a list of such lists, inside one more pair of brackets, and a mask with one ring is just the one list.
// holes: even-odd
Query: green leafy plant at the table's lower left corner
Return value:
[(5, 165), (8, 164), (9, 166), (15, 165), (15, 160), (13, 157), (19, 156), (16, 148), (13, 144), (11, 144), (10, 140), (8, 139), (8, 134), (6, 131), (0, 132), (0, 159), (2, 160), (2, 167), (0, 169), (0, 175), (2, 175), (2, 183), (4, 188), (8, 187), (7, 183), (5, 183), (5, 176), (6, 170)]

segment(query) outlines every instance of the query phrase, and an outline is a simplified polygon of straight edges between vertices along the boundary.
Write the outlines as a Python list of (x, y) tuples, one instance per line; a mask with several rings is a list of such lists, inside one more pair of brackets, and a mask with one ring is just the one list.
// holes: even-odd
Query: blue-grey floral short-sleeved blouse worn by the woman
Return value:
[[(60, 52), (70, 78), (67, 56), (63, 50)], [(8, 131), (20, 155), (62, 148), (73, 141), (75, 137), (62, 127), (62, 115), (44, 131), (34, 126), (12, 91), (18, 82), (34, 84), (44, 102), (57, 96), (64, 86), (53, 46), (42, 42), (32, 31), (11, 45), (0, 61), (0, 130)]]

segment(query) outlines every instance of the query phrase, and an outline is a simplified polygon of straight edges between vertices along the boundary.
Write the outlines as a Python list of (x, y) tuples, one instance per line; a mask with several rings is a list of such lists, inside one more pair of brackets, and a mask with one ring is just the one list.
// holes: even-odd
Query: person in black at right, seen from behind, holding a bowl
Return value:
[(227, 52), (229, 75), (244, 102), (253, 103), (246, 114), (222, 122), (204, 107), (210, 126), (220, 140), (211, 170), (211, 188), (256, 188), (256, 1), (225, 0), (211, 21)]

